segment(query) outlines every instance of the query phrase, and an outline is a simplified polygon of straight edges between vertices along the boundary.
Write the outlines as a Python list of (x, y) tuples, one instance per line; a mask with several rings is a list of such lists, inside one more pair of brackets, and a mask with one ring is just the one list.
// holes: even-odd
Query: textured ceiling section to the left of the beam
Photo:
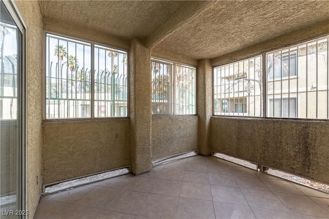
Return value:
[(184, 1), (39, 1), (45, 18), (121, 36), (146, 37)]

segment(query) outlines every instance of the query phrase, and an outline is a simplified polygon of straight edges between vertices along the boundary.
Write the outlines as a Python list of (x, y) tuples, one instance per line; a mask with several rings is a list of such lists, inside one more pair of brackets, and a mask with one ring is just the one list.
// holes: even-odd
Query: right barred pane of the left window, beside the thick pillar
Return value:
[(95, 117), (126, 117), (127, 53), (95, 45)]

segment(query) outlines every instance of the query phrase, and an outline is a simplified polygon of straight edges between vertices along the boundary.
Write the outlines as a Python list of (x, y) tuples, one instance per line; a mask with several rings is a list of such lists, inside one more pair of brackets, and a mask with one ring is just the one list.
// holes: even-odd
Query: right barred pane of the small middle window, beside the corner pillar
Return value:
[(196, 108), (196, 69), (175, 64), (175, 114), (195, 114)]

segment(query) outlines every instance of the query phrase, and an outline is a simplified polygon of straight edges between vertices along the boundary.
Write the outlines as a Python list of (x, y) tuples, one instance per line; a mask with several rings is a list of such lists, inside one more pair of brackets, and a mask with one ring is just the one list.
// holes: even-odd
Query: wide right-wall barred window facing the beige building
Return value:
[(214, 115), (329, 119), (328, 36), (214, 67), (213, 75)]

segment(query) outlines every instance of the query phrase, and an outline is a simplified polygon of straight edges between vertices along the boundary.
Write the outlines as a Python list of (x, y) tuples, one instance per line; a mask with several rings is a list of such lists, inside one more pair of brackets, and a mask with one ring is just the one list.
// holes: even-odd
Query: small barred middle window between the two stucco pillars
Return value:
[(195, 67), (152, 58), (152, 114), (196, 113)]

